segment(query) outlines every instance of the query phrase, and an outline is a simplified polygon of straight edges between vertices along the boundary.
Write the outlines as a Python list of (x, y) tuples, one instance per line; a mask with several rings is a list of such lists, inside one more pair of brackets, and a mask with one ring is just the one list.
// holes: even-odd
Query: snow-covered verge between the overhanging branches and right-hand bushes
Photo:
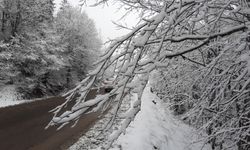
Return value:
[[(94, 133), (95, 129), (97, 128), (94, 127), (90, 132)], [(98, 141), (91, 139), (94, 137), (91, 133), (80, 138), (69, 150), (91, 149), (89, 144), (99, 145)], [(126, 134), (121, 135), (111, 149), (210, 150), (209, 146), (203, 147), (202, 143), (195, 143), (197, 137), (197, 131), (175, 118), (168, 109), (168, 104), (150, 92), (148, 84), (143, 93), (141, 111), (127, 128)]]

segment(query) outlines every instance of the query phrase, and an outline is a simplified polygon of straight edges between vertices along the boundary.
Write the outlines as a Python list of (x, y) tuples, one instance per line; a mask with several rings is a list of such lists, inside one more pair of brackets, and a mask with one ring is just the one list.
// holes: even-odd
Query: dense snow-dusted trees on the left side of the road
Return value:
[(63, 1), (2, 0), (0, 85), (21, 99), (58, 95), (81, 81), (98, 56), (101, 39), (80, 8)]

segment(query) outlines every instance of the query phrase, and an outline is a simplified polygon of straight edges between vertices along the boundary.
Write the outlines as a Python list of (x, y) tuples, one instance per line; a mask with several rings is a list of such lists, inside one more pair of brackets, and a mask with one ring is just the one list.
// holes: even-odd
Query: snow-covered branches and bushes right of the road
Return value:
[[(88, 3), (88, 0), (82, 0)], [(94, 5), (112, 1), (96, 0)], [(246, 150), (250, 146), (250, 54), (248, 0), (119, 0), (126, 14), (139, 13), (138, 25), (111, 41), (95, 69), (75, 89), (65, 94), (68, 102), (81, 96), (71, 110), (58, 115), (50, 125), (77, 122), (84, 113), (110, 108), (106, 130), (117, 120), (120, 128), (104, 148), (125, 132), (141, 110), (142, 93), (149, 74), (155, 74), (156, 92), (183, 120), (203, 131), (203, 141), (212, 149)], [(124, 16), (122, 16), (124, 17)], [(85, 101), (96, 80), (114, 68), (114, 89)], [(119, 114), (128, 93), (138, 99), (125, 115)], [(114, 97), (115, 98), (110, 98)], [(108, 105), (108, 106), (106, 106)], [(94, 107), (94, 109), (93, 109)], [(92, 109), (89, 109), (92, 108)], [(121, 117), (122, 116), (122, 117)]]

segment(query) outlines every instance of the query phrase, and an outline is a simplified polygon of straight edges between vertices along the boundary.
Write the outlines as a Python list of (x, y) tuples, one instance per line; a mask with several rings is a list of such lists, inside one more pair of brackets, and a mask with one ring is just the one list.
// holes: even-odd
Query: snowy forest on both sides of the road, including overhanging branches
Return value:
[[(1, 84), (15, 84), (23, 98), (66, 98), (47, 128), (108, 111), (100, 129), (108, 136), (97, 145), (111, 149), (141, 112), (150, 83), (204, 146), (250, 149), (249, 0), (81, 0), (88, 3), (118, 4), (121, 19), (138, 14), (138, 23), (116, 23), (128, 33), (101, 51), (93, 21), (66, 0), (56, 15), (52, 0), (1, 2)], [(112, 90), (86, 100), (107, 78)]]

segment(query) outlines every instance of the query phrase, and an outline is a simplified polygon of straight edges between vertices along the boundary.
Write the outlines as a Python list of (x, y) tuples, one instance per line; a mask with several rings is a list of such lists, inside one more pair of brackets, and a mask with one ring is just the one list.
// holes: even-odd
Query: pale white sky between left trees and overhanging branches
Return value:
[[(79, 0), (68, 0), (73, 6), (78, 6)], [(61, 0), (55, 0), (56, 9), (58, 9)], [(108, 39), (113, 39), (115, 37), (120, 37), (126, 34), (127, 30), (118, 30), (116, 25), (112, 21), (118, 21), (122, 16), (122, 11), (118, 11), (118, 5), (110, 3), (108, 6), (98, 6), (98, 7), (83, 7), (83, 10), (88, 14), (88, 16), (94, 20), (96, 24), (97, 31), (105, 42)], [(132, 19), (134, 18), (134, 19)], [(126, 19), (126, 22), (121, 22), (122, 24), (135, 25), (135, 17), (130, 16)], [(131, 26), (130, 26), (131, 27)]]

